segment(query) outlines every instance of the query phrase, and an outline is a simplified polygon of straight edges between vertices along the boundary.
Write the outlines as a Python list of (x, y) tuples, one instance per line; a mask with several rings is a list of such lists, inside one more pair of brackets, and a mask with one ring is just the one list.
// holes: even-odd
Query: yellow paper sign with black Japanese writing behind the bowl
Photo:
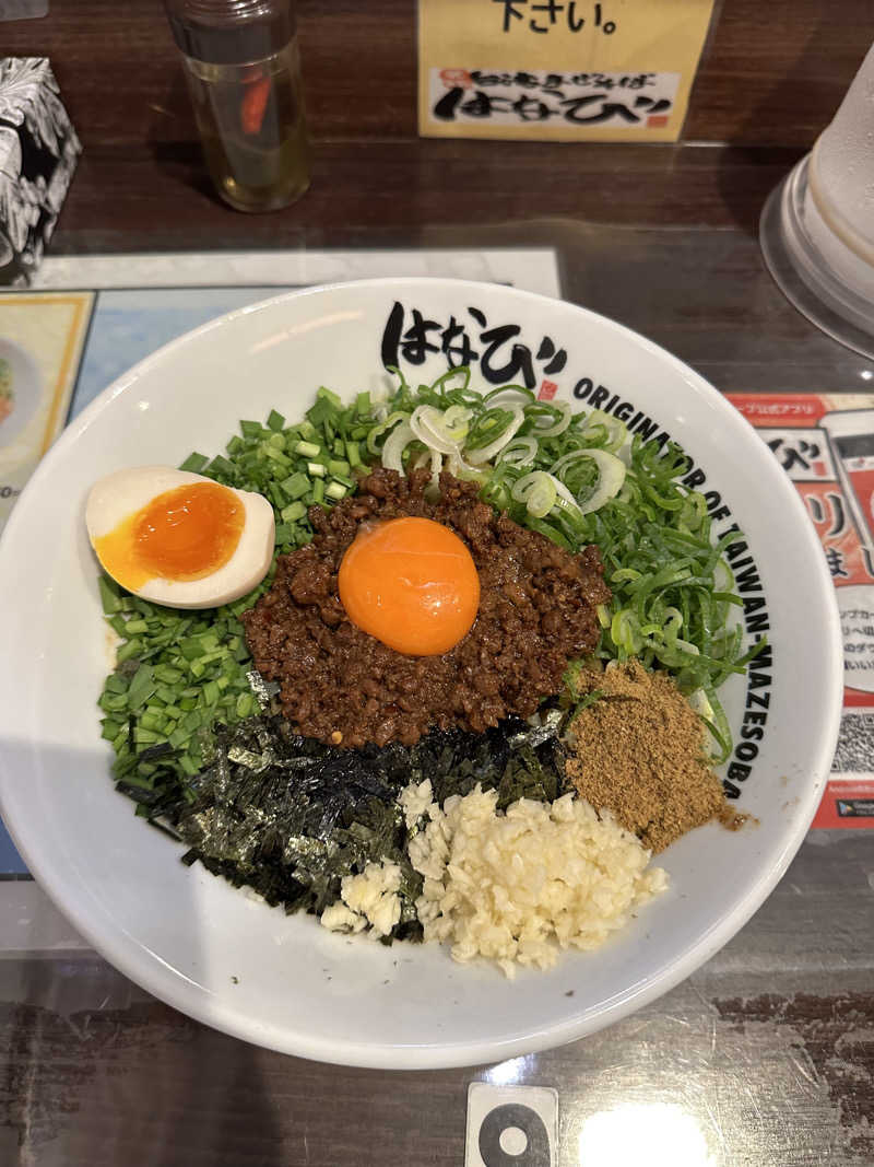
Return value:
[(713, 0), (420, 0), (424, 138), (676, 141)]

